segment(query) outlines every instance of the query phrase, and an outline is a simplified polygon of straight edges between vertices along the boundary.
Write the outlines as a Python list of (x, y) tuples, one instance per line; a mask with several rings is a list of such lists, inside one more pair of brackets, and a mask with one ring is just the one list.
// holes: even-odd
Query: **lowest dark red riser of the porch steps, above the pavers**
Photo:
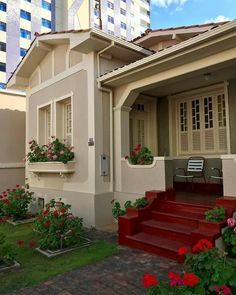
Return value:
[(173, 252), (171, 250), (161, 248), (160, 246), (153, 246), (153, 245), (149, 245), (145, 242), (138, 242), (138, 241), (134, 241), (132, 239), (129, 239), (128, 244), (126, 243), (125, 245), (129, 246), (131, 248), (144, 250), (149, 253), (154, 253), (159, 256), (164, 256), (164, 257), (167, 257), (172, 260), (177, 260), (179, 262), (183, 262), (183, 256), (178, 255), (177, 252)]

